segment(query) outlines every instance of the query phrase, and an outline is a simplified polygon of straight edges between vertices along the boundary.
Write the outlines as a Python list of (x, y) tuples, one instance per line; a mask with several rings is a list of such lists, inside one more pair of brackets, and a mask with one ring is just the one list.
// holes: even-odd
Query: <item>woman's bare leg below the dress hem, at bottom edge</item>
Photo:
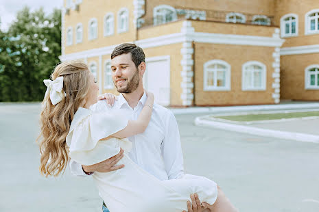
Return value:
[[(207, 204), (208, 206), (205, 208), (210, 209), (211, 212), (238, 212), (219, 186), (217, 186), (217, 191), (218, 193), (215, 203), (213, 205)], [(209, 212), (209, 210), (206, 211)]]

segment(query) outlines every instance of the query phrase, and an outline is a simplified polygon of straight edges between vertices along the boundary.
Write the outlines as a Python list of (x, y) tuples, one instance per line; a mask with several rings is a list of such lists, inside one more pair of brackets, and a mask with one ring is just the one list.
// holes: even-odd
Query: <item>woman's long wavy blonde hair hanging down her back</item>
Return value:
[(75, 112), (86, 103), (90, 88), (88, 66), (82, 61), (62, 62), (56, 66), (51, 79), (61, 76), (66, 96), (56, 105), (52, 105), (49, 95), (43, 99), (41, 131), (36, 140), (41, 155), (39, 170), (46, 177), (58, 176), (67, 167), (69, 148), (65, 139)]

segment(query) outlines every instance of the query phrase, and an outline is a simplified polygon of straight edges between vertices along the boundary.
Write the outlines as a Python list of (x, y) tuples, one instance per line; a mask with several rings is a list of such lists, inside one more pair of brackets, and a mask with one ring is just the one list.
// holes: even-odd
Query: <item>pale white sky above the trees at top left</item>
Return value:
[(16, 17), (16, 12), (21, 10), (25, 5), (31, 8), (32, 11), (43, 6), (45, 12), (49, 14), (53, 8), (62, 8), (62, 3), (63, 0), (0, 0), (1, 30), (8, 30), (10, 23)]

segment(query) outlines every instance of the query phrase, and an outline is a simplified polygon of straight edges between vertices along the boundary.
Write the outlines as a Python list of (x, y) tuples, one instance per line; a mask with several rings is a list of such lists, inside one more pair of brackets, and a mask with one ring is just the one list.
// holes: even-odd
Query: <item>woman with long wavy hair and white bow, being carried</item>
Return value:
[[(46, 176), (58, 176), (66, 168), (69, 157), (83, 165), (92, 165), (117, 155), (121, 148), (130, 151), (132, 144), (125, 138), (142, 133), (150, 122), (154, 103), (150, 93), (137, 120), (128, 120), (121, 111), (90, 110), (96, 103), (99, 88), (82, 62), (58, 65), (51, 78), (54, 81), (45, 80), (48, 88), (41, 112), (40, 172)], [(217, 185), (208, 178), (187, 175), (159, 181), (126, 154), (120, 163), (125, 168), (93, 174), (99, 194), (111, 212), (180, 212), (187, 210), (186, 202), (193, 193), (207, 202), (206, 208), (211, 211), (236, 211), (217, 199)]]

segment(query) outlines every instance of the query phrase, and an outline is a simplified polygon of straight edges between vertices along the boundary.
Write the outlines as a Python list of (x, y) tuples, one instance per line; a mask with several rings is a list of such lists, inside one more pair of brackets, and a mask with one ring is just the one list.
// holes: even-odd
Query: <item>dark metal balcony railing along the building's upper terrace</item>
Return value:
[(177, 8), (176, 14), (173, 14), (173, 12), (167, 12), (166, 14), (163, 13), (162, 15), (158, 15), (154, 18), (140, 18), (138, 20), (138, 27), (162, 25), (181, 19), (274, 26), (274, 16), (265, 16), (261, 14), (226, 12), (218, 10), (191, 10), (185, 8)]

